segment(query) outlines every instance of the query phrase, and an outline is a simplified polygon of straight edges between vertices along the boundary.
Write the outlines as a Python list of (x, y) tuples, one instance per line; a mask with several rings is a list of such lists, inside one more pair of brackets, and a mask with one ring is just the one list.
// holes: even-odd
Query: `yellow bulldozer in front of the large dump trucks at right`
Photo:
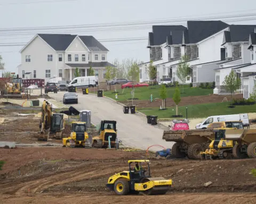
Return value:
[(215, 138), (209, 145), (209, 149), (201, 151), (201, 159), (224, 159), (232, 157), (233, 148), (235, 142), (232, 140), (226, 140), (225, 131), (236, 128), (221, 128), (213, 130), (215, 133)]

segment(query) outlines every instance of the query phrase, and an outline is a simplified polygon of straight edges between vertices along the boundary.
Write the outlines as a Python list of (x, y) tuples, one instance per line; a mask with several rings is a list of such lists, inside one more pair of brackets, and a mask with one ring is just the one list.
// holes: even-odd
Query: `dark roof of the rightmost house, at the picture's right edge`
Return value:
[(225, 43), (247, 42), (250, 33), (254, 31), (256, 25), (229, 25), (229, 31), (225, 31)]

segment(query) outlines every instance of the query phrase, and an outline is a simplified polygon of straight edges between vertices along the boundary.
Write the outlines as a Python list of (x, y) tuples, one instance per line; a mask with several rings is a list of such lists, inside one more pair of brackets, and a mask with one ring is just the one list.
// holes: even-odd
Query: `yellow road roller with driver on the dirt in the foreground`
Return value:
[[(149, 160), (129, 160), (129, 171), (123, 171), (110, 176), (107, 188), (117, 195), (137, 194), (165, 194), (172, 185), (172, 180), (163, 177), (151, 177)], [(135, 163), (134, 169), (132, 163)], [(143, 168), (141, 163), (147, 163)]]

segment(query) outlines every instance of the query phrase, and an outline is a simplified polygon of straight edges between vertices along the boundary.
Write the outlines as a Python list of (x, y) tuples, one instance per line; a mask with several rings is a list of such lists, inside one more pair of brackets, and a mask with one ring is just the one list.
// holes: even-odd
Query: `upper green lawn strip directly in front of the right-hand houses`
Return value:
[[(153, 86), (153, 88), (150, 87), (139, 87), (135, 88), (134, 90), (134, 98), (138, 98), (139, 100), (149, 100), (150, 95), (153, 95), (153, 98), (159, 98), (159, 89), (161, 86)], [(180, 92), (182, 92), (182, 86), (179, 87)], [(174, 94), (174, 87), (166, 88), (167, 89), (167, 98), (172, 98)], [(126, 89), (118, 89), (118, 101), (124, 101), (131, 99), (131, 90), (129, 88)], [(105, 91), (104, 96), (110, 97), (115, 99), (115, 94), (113, 93), (114, 90), (111, 91)], [(185, 96), (204, 96), (213, 94), (213, 89), (202, 89), (202, 88), (190, 88), (188, 86), (184, 87), (184, 94), (181, 94), (181, 97)]]

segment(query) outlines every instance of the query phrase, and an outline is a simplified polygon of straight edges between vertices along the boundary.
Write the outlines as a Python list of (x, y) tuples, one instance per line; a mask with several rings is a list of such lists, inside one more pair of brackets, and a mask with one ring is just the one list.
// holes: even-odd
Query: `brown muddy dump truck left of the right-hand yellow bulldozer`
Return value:
[(214, 140), (214, 132), (210, 129), (164, 131), (163, 139), (175, 142), (172, 146), (172, 155), (175, 158), (188, 157), (189, 159), (201, 159), (201, 151), (209, 148)]

